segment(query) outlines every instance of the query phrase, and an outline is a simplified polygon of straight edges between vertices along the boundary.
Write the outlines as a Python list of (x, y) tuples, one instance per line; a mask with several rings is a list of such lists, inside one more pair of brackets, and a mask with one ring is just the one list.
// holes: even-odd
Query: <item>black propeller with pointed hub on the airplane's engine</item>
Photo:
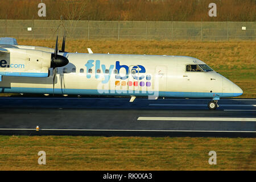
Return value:
[[(63, 37), (63, 43), (62, 43), (62, 50), (61, 51), (64, 51), (64, 49), (65, 49), (65, 35)], [(61, 51), (59, 51), (59, 52), (61, 52)], [(52, 71), (53, 71), (53, 80), (52, 80), (53, 96), (54, 96), (54, 86), (55, 86), (56, 73), (57, 73), (56, 68), (57, 67), (64, 67), (68, 63), (69, 63), (69, 61), (68, 61), (67, 57), (58, 55), (58, 36), (57, 36), (54, 53), (52, 53), (52, 55), (51, 55), (51, 68), (53, 68), (52, 69)]]

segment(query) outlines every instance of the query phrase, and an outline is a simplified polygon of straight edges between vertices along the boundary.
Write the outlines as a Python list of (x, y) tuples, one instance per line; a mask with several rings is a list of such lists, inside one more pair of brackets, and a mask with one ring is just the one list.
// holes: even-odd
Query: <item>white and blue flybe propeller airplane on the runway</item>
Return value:
[(55, 49), (0, 38), (0, 93), (210, 98), (210, 110), (220, 98), (243, 94), (195, 57), (70, 53), (65, 39), (58, 50), (58, 37)]

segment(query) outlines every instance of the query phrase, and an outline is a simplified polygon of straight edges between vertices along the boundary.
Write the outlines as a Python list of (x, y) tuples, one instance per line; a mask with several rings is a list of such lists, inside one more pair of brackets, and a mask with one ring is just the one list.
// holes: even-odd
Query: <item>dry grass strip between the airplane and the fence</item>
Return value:
[[(21, 45), (55, 47), (55, 40), (19, 40)], [(67, 40), (68, 52), (192, 56), (210, 65), (243, 89), (240, 98), (256, 98), (256, 42), (168, 42)]]

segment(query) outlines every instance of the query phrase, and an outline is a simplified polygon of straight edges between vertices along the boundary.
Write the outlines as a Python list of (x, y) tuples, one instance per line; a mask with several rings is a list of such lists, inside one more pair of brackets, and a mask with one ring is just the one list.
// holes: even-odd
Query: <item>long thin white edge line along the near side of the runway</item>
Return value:
[[(0, 129), (0, 130), (35, 130), (36, 129)], [(94, 129), (40, 129), (40, 131), (147, 131), (147, 132), (214, 132), (214, 133), (256, 133), (256, 131), (225, 131), (225, 130), (94, 130)]]

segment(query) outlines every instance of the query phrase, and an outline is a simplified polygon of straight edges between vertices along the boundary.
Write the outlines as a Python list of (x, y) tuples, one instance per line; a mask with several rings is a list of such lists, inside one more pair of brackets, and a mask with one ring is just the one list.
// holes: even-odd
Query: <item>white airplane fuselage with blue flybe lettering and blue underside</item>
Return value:
[[(69, 64), (57, 68), (55, 94), (220, 98), (242, 90), (214, 71), (191, 72), (187, 65), (204, 64), (187, 56), (59, 53)], [(53, 93), (49, 77), (3, 76), (0, 92)]]

